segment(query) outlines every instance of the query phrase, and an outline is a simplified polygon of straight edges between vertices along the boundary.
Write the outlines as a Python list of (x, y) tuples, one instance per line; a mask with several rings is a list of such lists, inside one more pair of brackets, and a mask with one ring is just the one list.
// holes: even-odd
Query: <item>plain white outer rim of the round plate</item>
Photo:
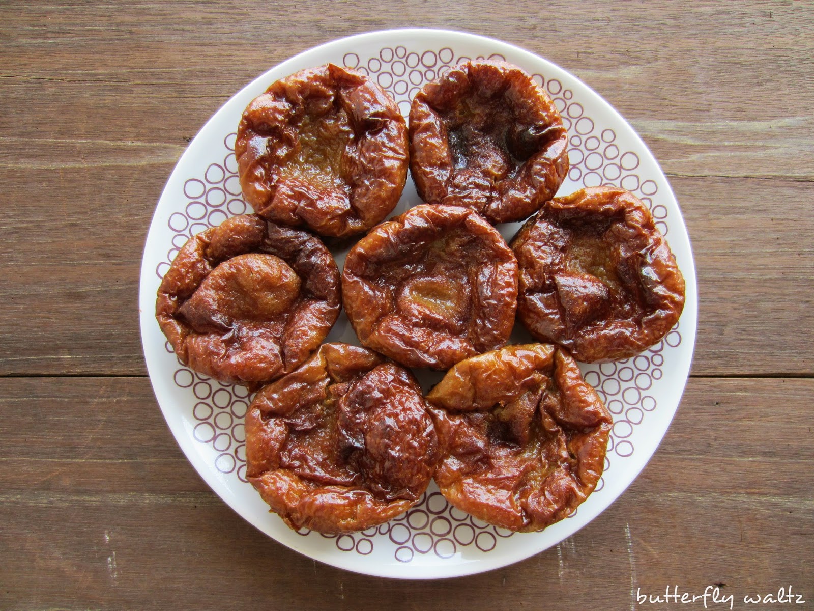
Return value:
[[(330, 52), (336, 49), (344, 49), (347, 48), (348, 45), (354, 43), (370, 43), (376, 42), (379, 39), (383, 39), (382, 42), (387, 42), (385, 39), (387, 37), (405, 37), (405, 36), (413, 36), (415, 37), (413, 42), (418, 42), (416, 39), (420, 38), (427, 38), (432, 40), (433, 42), (437, 42), (438, 37), (446, 37), (449, 41), (449, 44), (452, 44), (453, 41), (449, 40), (450, 38), (457, 39), (459, 42), (466, 42), (466, 43), (479, 43), (484, 45), (491, 45), (497, 47), (495, 51), (505, 51), (510, 50), (515, 55), (521, 55), (525, 58), (531, 60), (532, 62), (541, 62), (545, 64), (547, 67), (552, 68), (554, 72), (565, 73), (569, 78), (574, 79), (575, 81), (579, 82), (580, 86), (584, 87), (584, 90), (589, 93), (589, 95), (595, 96), (598, 103), (602, 106), (602, 109), (605, 112), (610, 112), (611, 115), (615, 116), (617, 121), (623, 123), (628, 127), (630, 130), (630, 134), (632, 135), (634, 142), (637, 143), (643, 150), (647, 152), (650, 156), (650, 159), (653, 160), (655, 169), (659, 174), (659, 178), (663, 179), (663, 185), (667, 188), (667, 196), (672, 198), (672, 201), (676, 204), (676, 209), (678, 210), (679, 214), (676, 216), (675, 219), (671, 219), (671, 226), (681, 227), (681, 231), (686, 236), (688, 247), (689, 247), (689, 257), (687, 257), (687, 266), (682, 267), (681, 272), (682, 275), (685, 277), (685, 282), (688, 288), (691, 290), (687, 291), (687, 297), (691, 296), (691, 299), (685, 301), (685, 311), (682, 312), (682, 319), (684, 318), (684, 314), (688, 314), (688, 319), (691, 320), (692, 328), (687, 329), (689, 333), (684, 335), (685, 329), (682, 328), (682, 342), (687, 342), (687, 349), (689, 351), (689, 359), (685, 364), (685, 367), (682, 367), (682, 371), (679, 373), (681, 374), (681, 391), (677, 393), (676, 397), (676, 405), (672, 408), (672, 412), (669, 414), (667, 418), (667, 426), (664, 429), (663, 434), (659, 438), (659, 441), (650, 449), (646, 449), (645, 451), (641, 452), (641, 457), (643, 458), (641, 462), (637, 463), (637, 465), (633, 465), (632, 468), (629, 468), (626, 471), (626, 477), (629, 477), (628, 481), (621, 486), (619, 493), (615, 495), (613, 499), (610, 499), (609, 502), (604, 504), (602, 508), (598, 509), (594, 515), (589, 516), (587, 520), (585, 520), (581, 525), (571, 533), (564, 534), (562, 538), (559, 538), (558, 541), (554, 543), (541, 543), (540, 545), (532, 545), (531, 547), (522, 547), (520, 548), (519, 552), (503, 552), (497, 554), (490, 554), (485, 555), (483, 558), (479, 558), (478, 560), (470, 560), (464, 562), (457, 562), (457, 563), (450, 563), (449, 565), (402, 565), (397, 568), (404, 569), (403, 572), (396, 573), (395, 571), (388, 570), (394, 565), (375, 565), (371, 563), (370, 560), (365, 563), (364, 561), (359, 562), (356, 558), (348, 557), (345, 561), (335, 560), (334, 558), (324, 558), (321, 556), (313, 555), (308, 551), (289, 544), (288, 542), (283, 542), (278, 538), (274, 537), (274, 535), (269, 534), (266, 532), (263, 525), (260, 524), (260, 521), (253, 519), (253, 516), (244, 515), (243, 512), (240, 511), (240, 508), (235, 506), (238, 503), (232, 503), (229, 499), (225, 499), (221, 494), (218, 493), (217, 489), (222, 486), (222, 482), (220, 481), (219, 477), (215, 473), (213, 473), (212, 468), (205, 464), (204, 459), (199, 455), (197, 451), (195, 451), (189, 439), (189, 436), (186, 435), (186, 432), (181, 429), (180, 425), (173, 425), (173, 419), (169, 417), (169, 406), (164, 407), (164, 404), (159, 400), (159, 393), (160, 389), (158, 388), (158, 376), (156, 375), (155, 366), (151, 367), (149, 360), (147, 358), (147, 325), (155, 324), (155, 296), (154, 295), (146, 295), (145, 294), (145, 287), (147, 286), (147, 279), (155, 273), (155, 270), (147, 268), (147, 248), (149, 246), (149, 238), (152, 234), (154, 229), (155, 223), (157, 221), (158, 213), (159, 213), (159, 204), (164, 199), (165, 196), (169, 196), (168, 193), (169, 184), (172, 182), (173, 174), (177, 171), (179, 166), (182, 166), (183, 162), (186, 160), (188, 156), (191, 156), (191, 150), (193, 150), (195, 141), (199, 138), (200, 134), (208, 131), (210, 125), (215, 123), (218, 120), (218, 116), (221, 114), (227, 114), (230, 112), (230, 108), (236, 104), (236, 100), (239, 99), (241, 94), (244, 91), (251, 89), (258, 84), (264, 84), (268, 81), (268, 77), (266, 75), (275, 69), (283, 68), (289, 64), (297, 64), (298, 61), (304, 55), (310, 54), (317, 54), (320, 52)], [(696, 276), (696, 269), (695, 269), (695, 257), (692, 248), (692, 242), (689, 239), (689, 231), (687, 231), (684, 215), (681, 213), (681, 206), (678, 204), (678, 200), (676, 199), (675, 193), (672, 190), (672, 186), (670, 182), (667, 180), (667, 176), (664, 174), (664, 171), (659, 164), (659, 160), (653, 155), (650, 151), (650, 148), (647, 147), (646, 143), (641, 139), (641, 136), (637, 133), (632, 125), (622, 116), (619, 112), (607, 102), (606, 99), (602, 97), (602, 95), (598, 94), (592, 87), (585, 84), (584, 81), (581, 81), (579, 77), (576, 77), (574, 74), (568, 72), (565, 68), (559, 67), (557, 64), (552, 63), (549, 59), (545, 59), (540, 55), (536, 55), (536, 53), (532, 51), (527, 51), (522, 47), (516, 46), (509, 42), (501, 41), (497, 38), (484, 36), (481, 34), (470, 33), (465, 30), (458, 30), (458, 29), (437, 29), (437, 28), (400, 28), (400, 29), (383, 29), (383, 30), (370, 30), (364, 33), (357, 33), (352, 34), (347, 37), (340, 37), (330, 40), (328, 42), (324, 42), (320, 45), (310, 47), (309, 49), (305, 49), (304, 51), (300, 51), (296, 55), (292, 55), (290, 58), (283, 60), (278, 64), (274, 64), (270, 66), (264, 73), (260, 74), (258, 77), (249, 81), (245, 86), (240, 88), (239, 90), (235, 91), (233, 95), (230, 96), (229, 99), (225, 101), (225, 103), (221, 104), (221, 106), (208, 118), (207, 121), (204, 122), (204, 125), (201, 126), (197, 134), (195, 134), (195, 138), (190, 140), (190, 143), (187, 145), (186, 149), (182, 153), (182, 155), (178, 158), (175, 165), (173, 165), (173, 169), (170, 172), (167, 182), (164, 184), (164, 188), (161, 191), (159, 199), (156, 201), (155, 209), (151, 218), (150, 226), (147, 231), (147, 235), (145, 236), (144, 248), (142, 250), (142, 265), (139, 275), (139, 291), (138, 291), (138, 304), (139, 304), (139, 331), (142, 340), (142, 352), (145, 358), (145, 365), (147, 367), (148, 376), (150, 379), (151, 387), (153, 389), (153, 393), (155, 395), (156, 402), (159, 404), (160, 410), (162, 415), (164, 416), (164, 421), (167, 423), (170, 432), (173, 433), (173, 437), (175, 438), (175, 442), (181, 448), (182, 452), (186, 456), (186, 459), (190, 462), (190, 464), (195, 468), (195, 471), (198, 472), (199, 476), (204, 479), (207, 483), (209, 488), (212, 492), (218, 496), (224, 503), (226, 503), (234, 512), (236, 512), (239, 516), (241, 516), (244, 520), (248, 521), (250, 524), (256, 527), (257, 530), (260, 530), (261, 533), (265, 534), (265, 536), (274, 540), (275, 543), (284, 545), (285, 547), (290, 548), (291, 550), (302, 554), (303, 556), (309, 557), (313, 560), (319, 560), (326, 565), (334, 566), (338, 569), (348, 570), (358, 574), (367, 574), (374, 577), (383, 577), (383, 578), (396, 578), (396, 579), (404, 579), (404, 580), (413, 580), (413, 579), (441, 579), (441, 578), (454, 578), (454, 577), (462, 577), (466, 575), (472, 574), (479, 574), (484, 573), (489, 570), (499, 569), (501, 567), (505, 567), (507, 565), (512, 565), (515, 562), (519, 562), (521, 560), (526, 560), (532, 556), (536, 556), (540, 552), (544, 552), (549, 547), (554, 547), (561, 543), (562, 540), (565, 538), (571, 537), (573, 534), (584, 528), (584, 526), (588, 525), (593, 519), (597, 516), (601, 515), (603, 512), (606, 511), (607, 508), (610, 507), (611, 504), (615, 503), (616, 500), (619, 499), (624, 492), (628, 489), (628, 487), (632, 484), (633, 481), (637, 479), (637, 477), (641, 474), (641, 471), (645, 468), (645, 466), (650, 462), (654, 452), (656, 449), (661, 445), (663, 442), (664, 437), (667, 435), (667, 431), (669, 430), (670, 426), (672, 425), (672, 420), (675, 418), (676, 411), (681, 404), (681, 398), (683, 393), (686, 389), (687, 382), (689, 380), (689, 371), (692, 367), (693, 358), (694, 358), (694, 351), (695, 351), (695, 342), (698, 330), (698, 280)], [(147, 297), (147, 299), (146, 299)], [(147, 307), (145, 307), (147, 306)], [(689, 309), (688, 307), (689, 306)], [(683, 322), (683, 321), (682, 321)], [(666, 414), (665, 414), (666, 416)], [(353, 561), (357, 560), (357, 561)], [(372, 566), (371, 566), (372, 565)], [(377, 570), (379, 569), (379, 570)]]

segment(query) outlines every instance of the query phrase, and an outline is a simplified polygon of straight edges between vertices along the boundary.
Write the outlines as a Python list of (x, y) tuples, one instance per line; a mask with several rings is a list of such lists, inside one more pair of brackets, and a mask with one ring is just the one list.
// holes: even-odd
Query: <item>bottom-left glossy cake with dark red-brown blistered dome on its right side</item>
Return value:
[(418, 383), (371, 350), (324, 344), (246, 415), (247, 478), (292, 529), (365, 530), (407, 511), (438, 440)]

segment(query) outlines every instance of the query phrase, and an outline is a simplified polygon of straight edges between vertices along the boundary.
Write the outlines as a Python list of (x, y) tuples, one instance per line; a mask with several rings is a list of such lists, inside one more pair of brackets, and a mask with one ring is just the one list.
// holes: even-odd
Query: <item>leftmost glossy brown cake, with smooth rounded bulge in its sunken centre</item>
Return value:
[(246, 214), (184, 244), (155, 316), (182, 363), (254, 386), (304, 363), (339, 308), (339, 270), (325, 244)]

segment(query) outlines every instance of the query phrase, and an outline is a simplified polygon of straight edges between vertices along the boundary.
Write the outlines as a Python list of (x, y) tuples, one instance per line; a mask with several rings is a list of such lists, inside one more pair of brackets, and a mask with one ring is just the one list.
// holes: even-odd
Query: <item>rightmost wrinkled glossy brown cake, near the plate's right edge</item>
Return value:
[(672, 329), (684, 277), (650, 210), (616, 187), (545, 204), (512, 241), (518, 315), (540, 341), (586, 363), (628, 358)]

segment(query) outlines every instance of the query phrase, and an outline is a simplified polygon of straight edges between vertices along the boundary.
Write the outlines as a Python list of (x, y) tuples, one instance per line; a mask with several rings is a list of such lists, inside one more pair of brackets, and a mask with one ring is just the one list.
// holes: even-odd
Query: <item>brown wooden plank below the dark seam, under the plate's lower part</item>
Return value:
[(810, 608), (814, 460), (799, 415), (812, 392), (814, 380), (690, 380), (650, 464), (583, 530), (505, 569), (398, 582), (314, 562), (243, 521), (186, 463), (147, 380), (0, 380), (0, 606), (631, 609), (637, 588), (722, 582), (736, 609), (788, 584)]

